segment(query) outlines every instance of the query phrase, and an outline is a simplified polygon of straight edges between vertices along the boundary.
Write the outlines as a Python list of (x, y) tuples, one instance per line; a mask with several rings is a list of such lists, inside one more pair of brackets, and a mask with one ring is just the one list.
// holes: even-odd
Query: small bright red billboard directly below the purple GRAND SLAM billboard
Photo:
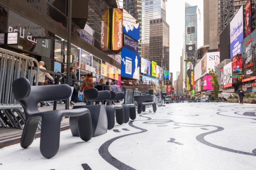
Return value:
[[(232, 58), (232, 75), (237, 76), (239, 74), (242, 74), (242, 56), (238, 54)], [(232, 84), (237, 83), (238, 79), (232, 78)]]

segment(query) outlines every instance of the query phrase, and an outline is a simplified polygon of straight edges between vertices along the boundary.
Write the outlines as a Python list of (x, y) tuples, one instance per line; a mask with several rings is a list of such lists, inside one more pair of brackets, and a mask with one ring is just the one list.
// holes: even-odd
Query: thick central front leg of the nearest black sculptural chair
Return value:
[(54, 157), (60, 146), (60, 123), (63, 115), (42, 115), (40, 152), (45, 158)]

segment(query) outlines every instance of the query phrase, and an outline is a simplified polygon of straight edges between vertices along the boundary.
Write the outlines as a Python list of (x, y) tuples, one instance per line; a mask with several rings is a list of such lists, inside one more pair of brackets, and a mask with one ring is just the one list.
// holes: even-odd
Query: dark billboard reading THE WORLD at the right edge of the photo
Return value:
[(244, 79), (242, 82), (256, 79), (256, 31), (253, 31), (250, 36), (242, 41), (242, 72)]

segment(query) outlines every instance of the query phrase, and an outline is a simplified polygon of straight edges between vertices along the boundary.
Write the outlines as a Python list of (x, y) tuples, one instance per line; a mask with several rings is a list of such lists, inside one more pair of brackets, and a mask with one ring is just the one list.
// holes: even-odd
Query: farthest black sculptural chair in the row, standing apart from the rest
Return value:
[(138, 114), (140, 114), (142, 111), (145, 112), (146, 105), (152, 105), (154, 113), (156, 113), (156, 103), (155, 102), (144, 102), (147, 100), (152, 100), (151, 95), (143, 95), (143, 96), (134, 96), (134, 100), (137, 101), (138, 104)]

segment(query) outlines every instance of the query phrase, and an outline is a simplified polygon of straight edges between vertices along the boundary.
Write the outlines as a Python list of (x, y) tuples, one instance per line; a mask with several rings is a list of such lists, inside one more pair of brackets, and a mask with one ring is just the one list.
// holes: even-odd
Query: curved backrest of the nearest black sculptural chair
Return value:
[(30, 86), (28, 79), (18, 78), (12, 82), (14, 98), (24, 108), (26, 114), (40, 112), (37, 104), (42, 101), (64, 100), (71, 95), (69, 85)]

